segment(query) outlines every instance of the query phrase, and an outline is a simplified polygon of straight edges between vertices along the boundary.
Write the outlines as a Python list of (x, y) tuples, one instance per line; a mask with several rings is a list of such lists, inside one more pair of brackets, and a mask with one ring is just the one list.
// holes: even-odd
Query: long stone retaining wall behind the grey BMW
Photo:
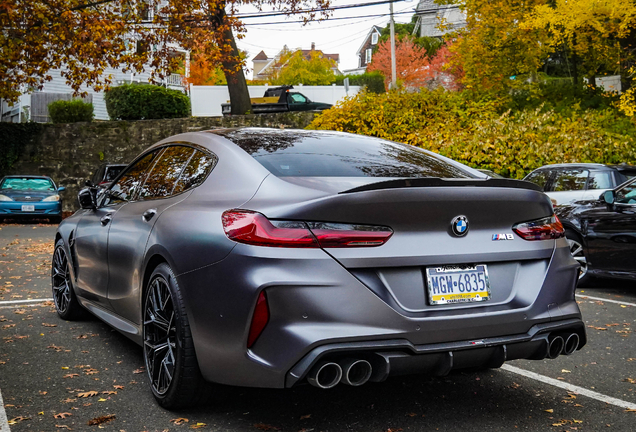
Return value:
[(62, 192), (64, 211), (78, 208), (77, 193), (102, 163), (128, 163), (142, 150), (184, 132), (216, 127), (257, 126), (305, 128), (316, 113), (298, 112), (231, 117), (49, 124), (8, 174), (46, 175)]

